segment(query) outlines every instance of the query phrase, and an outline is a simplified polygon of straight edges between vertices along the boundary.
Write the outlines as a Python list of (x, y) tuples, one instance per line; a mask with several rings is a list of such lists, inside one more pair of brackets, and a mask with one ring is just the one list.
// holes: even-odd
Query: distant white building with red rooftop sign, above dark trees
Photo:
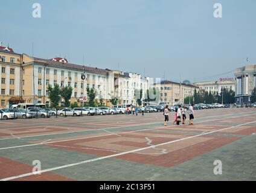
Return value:
[(219, 81), (203, 81), (194, 83), (200, 90), (205, 90), (211, 93), (221, 93), (222, 89), (234, 90), (235, 91), (235, 80), (234, 78), (220, 78)]

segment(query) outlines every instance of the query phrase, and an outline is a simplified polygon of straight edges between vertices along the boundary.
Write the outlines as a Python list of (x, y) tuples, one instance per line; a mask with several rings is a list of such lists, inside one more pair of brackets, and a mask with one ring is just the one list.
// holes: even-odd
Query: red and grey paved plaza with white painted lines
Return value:
[(172, 112), (168, 127), (162, 113), (2, 120), (0, 179), (256, 180), (256, 109), (195, 117), (173, 125)]

